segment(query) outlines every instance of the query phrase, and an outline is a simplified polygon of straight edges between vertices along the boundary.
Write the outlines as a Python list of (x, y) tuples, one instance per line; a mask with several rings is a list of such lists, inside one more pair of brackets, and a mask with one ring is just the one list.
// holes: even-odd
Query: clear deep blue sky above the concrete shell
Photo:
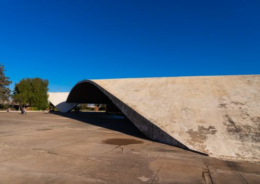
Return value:
[(13, 84), (260, 74), (260, 1), (2, 0), (0, 63)]

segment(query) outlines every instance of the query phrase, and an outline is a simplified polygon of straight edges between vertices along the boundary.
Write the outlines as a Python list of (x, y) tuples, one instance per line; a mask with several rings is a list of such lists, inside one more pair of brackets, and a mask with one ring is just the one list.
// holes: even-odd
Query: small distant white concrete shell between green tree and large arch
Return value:
[(69, 110), (76, 107), (78, 104), (74, 103), (66, 103), (69, 92), (60, 92), (53, 93), (49, 92), (48, 100), (60, 111), (60, 112), (68, 112)]

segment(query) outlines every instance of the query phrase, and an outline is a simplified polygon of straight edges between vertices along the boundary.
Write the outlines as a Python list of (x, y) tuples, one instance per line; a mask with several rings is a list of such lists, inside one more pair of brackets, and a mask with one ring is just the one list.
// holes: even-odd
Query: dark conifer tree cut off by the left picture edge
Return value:
[(4, 73), (4, 65), (1, 66), (0, 63), (0, 102), (9, 101), (9, 97), (11, 97), (11, 90), (7, 88), (12, 81), (9, 81), (9, 77), (5, 76)]

